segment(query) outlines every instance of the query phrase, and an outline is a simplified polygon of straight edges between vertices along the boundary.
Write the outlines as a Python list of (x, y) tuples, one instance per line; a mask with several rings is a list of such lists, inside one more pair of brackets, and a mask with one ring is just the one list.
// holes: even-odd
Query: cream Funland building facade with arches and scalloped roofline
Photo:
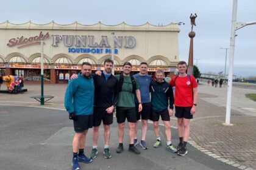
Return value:
[[(149, 74), (163, 69), (174, 72), (179, 62), (178, 24), (59, 25), (0, 23), (0, 75), (23, 76), (24, 81), (40, 81), (41, 39), (43, 38), (44, 81), (67, 83), (83, 62), (93, 70), (103, 69), (104, 60), (115, 52), (115, 72), (123, 63), (132, 63), (138, 72), (141, 62), (149, 64)], [(115, 33), (112, 38), (112, 32)], [(112, 44), (114, 44), (112, 46)]]

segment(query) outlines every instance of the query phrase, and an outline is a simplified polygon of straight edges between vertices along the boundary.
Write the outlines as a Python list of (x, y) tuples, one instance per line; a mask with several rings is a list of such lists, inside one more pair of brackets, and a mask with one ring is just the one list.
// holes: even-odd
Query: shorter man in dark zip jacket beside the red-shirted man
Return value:
[[(159, 118), (165, 124), (165, 135), (166, 135), (166, 150), (173, 153), (177, 152), (177, 149), (171, 143), (171, 122), (170, 117), (173, 115), (173, 104), (174, 96), (172, 92), (172, 87), (167, 83), (164, 78), (163, 70), (157, 70), (155, 72), (156, 81), (151, 84), (151, 103), (152, 112), (151, 120), (154, 122), (154, 131), (156, 142), (154, 148), (159, 148), (162, 145), (159, 129)], [(169, 109), (168, 109), (169, 105)]]

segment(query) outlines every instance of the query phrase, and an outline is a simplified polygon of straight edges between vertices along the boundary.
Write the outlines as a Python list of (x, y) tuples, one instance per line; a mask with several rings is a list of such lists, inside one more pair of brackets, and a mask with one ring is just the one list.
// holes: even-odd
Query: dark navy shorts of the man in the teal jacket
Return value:
[(89, 128), (93, 127), (93, 115), (77, 115), (77, 120), (74, 122), (74, 131), (77, 133), (82, 133)]

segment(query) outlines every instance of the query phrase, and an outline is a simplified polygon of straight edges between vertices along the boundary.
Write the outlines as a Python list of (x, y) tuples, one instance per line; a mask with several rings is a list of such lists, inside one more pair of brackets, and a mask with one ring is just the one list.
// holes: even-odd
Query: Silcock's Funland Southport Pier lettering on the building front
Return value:
[[(21, 36), (20, 38), (9, 39), (7, 46), (18, 48), (33, 46), (40, 44), (41, 39), (48, 39), (49, 32), (26, 38)], [(65, 47), (68, 47), (69, 53), (112, 53), (110, 49), (110, 43), (107, 36), (101, 36), (101, 41), (95, 42), (93, 35), (52, 35), (52, 46), (59, 47), (59, 44), (63, 43)], [(136, 39), (133, 36), (115, 36), (114, 48), (115, 53), (118, 53), (116, 48), (132, 49), (136, 46)]]

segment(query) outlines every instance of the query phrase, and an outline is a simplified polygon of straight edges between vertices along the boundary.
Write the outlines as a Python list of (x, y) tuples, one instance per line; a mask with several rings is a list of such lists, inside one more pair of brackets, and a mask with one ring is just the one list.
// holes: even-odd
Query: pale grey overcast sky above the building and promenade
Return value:
[[(197, 13), (196, 37), (194, 38), (194, 58), (202, 73), (224, 71), (226, 50), (230, 47), (232, 0), (108, 0), (108, 1), (6, 1), (0, 0), (0, 22), (9, 20), (14, 24), (32, 21), (46, 24), (54, 20), (58, 24), (95, 24), (98, 21), (108, 25), (126, 22), (141, 25), (180, 25), (180, 60), (188, 61), (190, 46), (190, 13)], [(237, 21), (256, 21), (256, 1), (238, 0)], [(247, 25), (236, 31), (234, 74), (247, 77), (256, 76), (256, 25)], [(194, 60), (196, 64), (196, 60)], [(229, 51), (227, 69), (229, 72)]]

